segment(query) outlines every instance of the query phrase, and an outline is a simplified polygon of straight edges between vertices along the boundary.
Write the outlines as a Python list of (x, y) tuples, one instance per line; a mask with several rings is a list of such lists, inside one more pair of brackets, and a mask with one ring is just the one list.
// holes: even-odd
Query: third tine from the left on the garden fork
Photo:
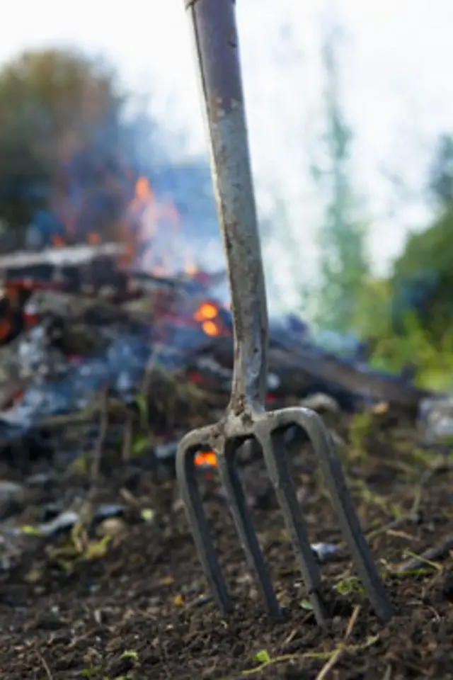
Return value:
[(326, 622), (327, 614), (320, 593), (321, 572), (311, 550), (302, 512), (297, 502), (286, 448), (282, 441), (277, 441), (282, 438), (277, 433), (271, 432), (269, 425), (265, 422), (258, 424), (256, 438), (263, 448), (265, 464), (283, 512), (316, 621), (322, 625)]

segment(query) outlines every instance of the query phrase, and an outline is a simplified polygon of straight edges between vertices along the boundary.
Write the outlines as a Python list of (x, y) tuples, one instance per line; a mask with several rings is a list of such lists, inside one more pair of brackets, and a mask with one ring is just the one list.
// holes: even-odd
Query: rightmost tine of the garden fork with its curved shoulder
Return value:
[[(355, 513), (354, 504), (345, 482), (343, 470), (336, 455), (331, 436), (323, 425), (320, 416), (309, 409), (288, 408), (267, 414), (267, 426), (271, 429), (287, 429), (299, 426), (309, 436), (316, 457), (321, 465), (323, 477), (328, 487), (333, 509), (348, 543), (355, 568), (362, 579), (376, 615), (382, 621), (389, 621), (393, 608), (386, 596), (384, 587), (374, 563), (367, 540), (362, 533)], [(273, 453), (275, 456), (275, 452)]]

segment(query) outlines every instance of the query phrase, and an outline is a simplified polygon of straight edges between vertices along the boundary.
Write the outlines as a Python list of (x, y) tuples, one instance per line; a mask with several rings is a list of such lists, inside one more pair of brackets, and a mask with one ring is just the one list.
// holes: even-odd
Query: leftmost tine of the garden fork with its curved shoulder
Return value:
[(180, 494), (202, 563), (202, 569), (205, 572), (205, 577), (210, 585), (217, 606), (219, 606), (223, 613), (228, 613), (232, 611), (233, 603), (219, 565), (219, 560), (217, 559), (214, 544), (212, 543), (205, 510), (203, 509), (198, 490), (195, 475), (196, 467), (193, 460), (195, 453), (202, 446), (206, 446), (207, 441), (209, 441), (210, 431), (210, 427), (203, 428), (190, 432), (183, 437), (176, 455), (176, 474), (178, 475)]

